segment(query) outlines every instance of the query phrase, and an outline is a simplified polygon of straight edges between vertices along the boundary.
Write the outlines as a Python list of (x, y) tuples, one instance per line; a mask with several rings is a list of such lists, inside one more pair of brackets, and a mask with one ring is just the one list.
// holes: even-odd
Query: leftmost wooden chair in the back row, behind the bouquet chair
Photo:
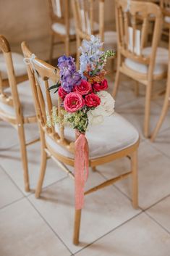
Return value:
[[(70, 41), (75, 41), (74, 20), (69, 18), (69, 0), (48, 0), (51, 18), (51, 46), (49, 62), (51, 63), (54, 45), (64, 44), (68, 56)], [(60, 41), (55, 43), (55, 37)]]

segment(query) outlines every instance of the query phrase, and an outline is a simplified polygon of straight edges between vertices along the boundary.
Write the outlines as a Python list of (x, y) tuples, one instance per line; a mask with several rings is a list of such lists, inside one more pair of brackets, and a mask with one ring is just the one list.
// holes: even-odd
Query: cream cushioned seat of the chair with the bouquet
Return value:
[[(75, 131), (72, 128), (64, 129), (65, 137), (69, 140), (75, 140)], [(132, 146), (139, 139), (137, 130), (117, 113), (106, 117), (101, 125), (94, 125), (86, 132), (90, 149), (90, 159), (103, 157), (114, 152), (119, 152)], [(46, 143), (58, 154), (65, 157), (74, 158), (74, 155), (68, 152), (64, 147), (46, 135)]]

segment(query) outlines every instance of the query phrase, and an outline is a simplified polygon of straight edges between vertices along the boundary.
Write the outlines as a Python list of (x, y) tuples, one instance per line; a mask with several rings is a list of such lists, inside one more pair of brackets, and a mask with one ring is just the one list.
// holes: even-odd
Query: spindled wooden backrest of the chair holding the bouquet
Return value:
[[(73, 141), (68, 141), (64, 137), (64, 122), (61, 112), (61, 99), (58, 94), (56, 96), (56, 109), (53, 107), (53, 99), (51, 98), (51, 92), (48, 88), (51, 84), (56, 84), (59, 77), (59, 69), (49, 65), (41, 59), (35, 57), (30, 62), (30, 58), (33, 57), (32, 52), (28, 49), (27, 44), (22, 42), (22, 51), (27, 61), (27, 73), (30, 80), (31, 88), (33, 91), (33, 99), (35, 104), (35, 111), (38, 119), (38, 123), (43, 131), (44, 135), (48, 135), (51, 139), (54, 139), (57, 144), (65, 146), (70, 152), (74, 151)], [(53, 114), (52, 114), (53, 113)], [(53, 123), (52, 116), (57, 115), (59, 118), (59, 125), (55, 128), (54, 125), (48, 125)]]

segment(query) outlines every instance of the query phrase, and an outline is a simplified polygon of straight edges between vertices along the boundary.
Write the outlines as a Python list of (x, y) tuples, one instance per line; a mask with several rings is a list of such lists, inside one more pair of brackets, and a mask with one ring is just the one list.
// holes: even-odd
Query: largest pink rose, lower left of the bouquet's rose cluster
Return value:
[(77, 92), (70, 92), (65, 96), (64, 99), (64, 109), (68, 112), (75, 112), (80, 110), (85, 104), (85, 100), (82, 98), (81, 94)]

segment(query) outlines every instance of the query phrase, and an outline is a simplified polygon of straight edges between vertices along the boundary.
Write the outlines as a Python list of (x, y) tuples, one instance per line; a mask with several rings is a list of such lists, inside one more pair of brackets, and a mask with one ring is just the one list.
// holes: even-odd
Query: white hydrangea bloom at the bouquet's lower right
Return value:
[(103, 123), (104, 117), (108, 117), (114, 113), (115, 100), (107, 91), (99, 91), (98, 96), (101, 98), (101, 104), (95, 107), (95, 110), (88, 112), (88, 120), (90, 125), (98, 125)]

